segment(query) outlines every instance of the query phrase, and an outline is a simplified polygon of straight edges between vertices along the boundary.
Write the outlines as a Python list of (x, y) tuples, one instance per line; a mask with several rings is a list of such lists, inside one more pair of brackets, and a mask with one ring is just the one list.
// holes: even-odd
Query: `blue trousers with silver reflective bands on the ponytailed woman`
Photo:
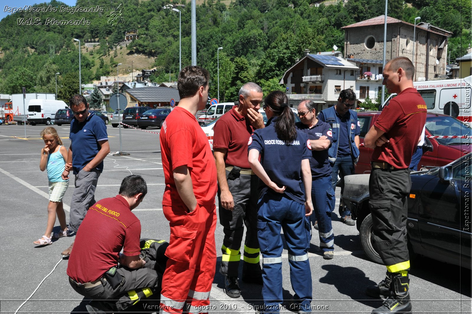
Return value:
[(258, 202), (257, 237), (262, 254), (262, 297), (265, 313), (279, 313), (283, 302), (282, 251), (280, 228), (284, 231), (290, 264), (290, 282), (300, 310), (311, 312), (312, 273), (308, 260), (311, 226), (304, 204), (285, 194), (264, 193)]

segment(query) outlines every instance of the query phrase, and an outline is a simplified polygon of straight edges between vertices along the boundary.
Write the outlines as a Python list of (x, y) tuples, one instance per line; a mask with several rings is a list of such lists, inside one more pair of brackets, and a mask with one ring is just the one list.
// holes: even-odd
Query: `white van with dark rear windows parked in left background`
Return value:
[(28, 123), (50, 125), (59, 109), (68, 108), (62, 100), (31, 99), (28, 103)]

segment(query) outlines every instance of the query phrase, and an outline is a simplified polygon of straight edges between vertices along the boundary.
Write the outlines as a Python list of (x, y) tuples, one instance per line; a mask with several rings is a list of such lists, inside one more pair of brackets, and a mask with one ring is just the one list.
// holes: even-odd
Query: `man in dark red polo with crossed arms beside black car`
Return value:
[(372, 313), (410, 313), (410, 258), (406, 240), (406, 197), (411, 189), (408, 166), (426, 122), (426, 104), (413, 87), (414, 66), (408, 58), (388, 61), (382, 75), (388, 92), (398, 95), (374, 122), (364, 145), (374, 149), (369, 180), (372, 242), (387, 266), (387, 276), (378, 286), (368, 286), (366, 293), (387, 297)]

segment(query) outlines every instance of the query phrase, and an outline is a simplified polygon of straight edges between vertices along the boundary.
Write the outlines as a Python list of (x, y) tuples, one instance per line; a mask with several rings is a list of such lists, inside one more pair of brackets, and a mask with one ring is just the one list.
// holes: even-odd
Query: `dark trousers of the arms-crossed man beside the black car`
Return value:
[(408, 169), (390, 172), (388, 169), (372, 168), (369, 207), (373, 246), (384, 265), (401, 265), (410, 260), (406, 239), (407, 195), (410, 189)]

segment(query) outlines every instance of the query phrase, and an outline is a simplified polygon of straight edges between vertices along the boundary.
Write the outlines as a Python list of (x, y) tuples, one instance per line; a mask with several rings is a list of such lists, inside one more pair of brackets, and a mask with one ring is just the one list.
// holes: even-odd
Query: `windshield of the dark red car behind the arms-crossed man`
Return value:
[(442, 145), (458, 145), (464, 143), (461, 136), (471, 136), (470, 128), (466, 128), (462, 122), (450, 116), (427, 117), (425, 126), (432, 136), (458, 136), (457, 138), (436, 139)]

